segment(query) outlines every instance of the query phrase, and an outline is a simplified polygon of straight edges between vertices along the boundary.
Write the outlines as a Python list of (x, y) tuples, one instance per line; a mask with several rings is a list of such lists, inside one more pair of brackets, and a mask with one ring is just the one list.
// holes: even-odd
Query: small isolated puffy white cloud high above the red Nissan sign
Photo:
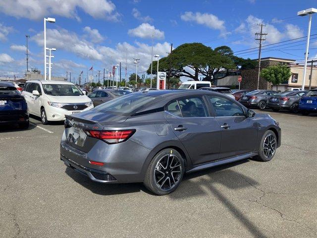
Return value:
[(156, 29), (149, 23), (142, 23), (138, 27), (130, 29), (128, 34), (130, 36), (136, 36), (140, 38), (152, 38), (152, 35), (154, 35), (154, 38), (156, 39), (164, 39), (164, 32)]

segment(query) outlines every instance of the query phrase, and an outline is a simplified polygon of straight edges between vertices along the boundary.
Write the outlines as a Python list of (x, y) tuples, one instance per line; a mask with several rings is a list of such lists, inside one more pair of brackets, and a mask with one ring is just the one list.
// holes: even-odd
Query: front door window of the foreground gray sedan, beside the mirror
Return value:
[(245, 116), (242, 108), (229, 99), (219, 96), (208, 96), (216, 117)]

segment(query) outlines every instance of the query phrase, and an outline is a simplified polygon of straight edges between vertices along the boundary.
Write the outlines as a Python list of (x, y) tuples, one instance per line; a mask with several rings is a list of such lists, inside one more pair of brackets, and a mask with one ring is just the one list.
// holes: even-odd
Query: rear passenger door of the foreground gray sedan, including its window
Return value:
[(190, 96), (166, 105), (166, 120), (190, 155), (193, 165), (218, 159), (220, 129), (201, 96)]

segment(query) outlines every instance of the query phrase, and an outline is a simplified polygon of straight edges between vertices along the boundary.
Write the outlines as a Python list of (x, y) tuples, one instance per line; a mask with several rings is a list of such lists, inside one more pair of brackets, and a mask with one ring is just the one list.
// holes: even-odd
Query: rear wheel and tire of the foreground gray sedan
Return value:
[(166, 195), (178, 187), (184, 171), (184, 159), (176, 150), (161, 150), (149, 164), (144, 185), (157, 195)]

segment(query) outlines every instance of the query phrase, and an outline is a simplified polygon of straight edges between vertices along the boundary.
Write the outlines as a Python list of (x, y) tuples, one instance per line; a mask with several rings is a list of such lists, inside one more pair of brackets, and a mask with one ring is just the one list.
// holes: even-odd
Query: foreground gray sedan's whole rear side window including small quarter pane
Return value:
[(183, 118), (208, 117), (206, 105), (201, 97), (179, 99), (167, 104), (167, 111)]

